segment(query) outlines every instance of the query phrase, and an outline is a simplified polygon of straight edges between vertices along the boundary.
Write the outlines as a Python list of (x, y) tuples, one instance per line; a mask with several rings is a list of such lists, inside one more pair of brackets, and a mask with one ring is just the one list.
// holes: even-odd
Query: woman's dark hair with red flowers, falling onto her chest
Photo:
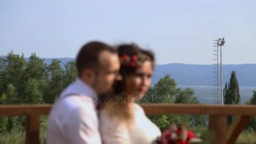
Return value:
[[(118, 101), (111, 101), (111, 96), (108, 96), (108, 100), (103, 103), (104, 105), (106, 104), (109, 115), (118, 117), (119, 120), (131, 120), (133, 117), (127, 107), (129, 104), (128, 96), (123, 93), (127, 92), (127, 88), (131, 88), (129, 85), (126, 85), (126, 80), (136, 74), (136, 70), (139, 69), (144, 61), (151, 61), (152, 69), (154, 69), (155, 57), (151, 51), (139, 48), (136, 44), (117, 45), (117, 53), (121, 63), (120, 74), (123, 77), (123, 80), (118, 81), (115, 85), (115, 98), (117, 98)], [(101, 100), (103, 99), (105, 99), (104, 96), (101, 97)], [(101, 105), (100, 109), (103, 107), (105, 106)]]

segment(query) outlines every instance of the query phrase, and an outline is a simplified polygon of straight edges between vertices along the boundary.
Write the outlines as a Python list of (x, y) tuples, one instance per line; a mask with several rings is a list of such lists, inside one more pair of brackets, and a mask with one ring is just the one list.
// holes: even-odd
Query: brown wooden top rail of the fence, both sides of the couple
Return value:
[[(146, 114), (256, 115), (255, 105), (140, 104)], [(48, 115), (52, 105), (0, 105), (0, 116)]]

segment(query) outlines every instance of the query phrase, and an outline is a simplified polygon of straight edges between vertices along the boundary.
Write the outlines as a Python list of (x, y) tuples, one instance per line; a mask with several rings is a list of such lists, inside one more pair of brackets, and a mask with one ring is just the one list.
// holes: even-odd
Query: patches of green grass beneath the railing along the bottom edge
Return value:
[[(207, 128), (194, 127), (189, 128), (193, 132), (197, 133), (204, 131)], [(42, 127), (40, 130), (40, 144), (45, 144), (46, 128)], [(0, 144), (25, 144), (25, 132), (19, 132), (17, 129), (13, 129), (10, 134), (0, 136)], [(243, 131), (237, 139), (237, 144), (253, 144), (256, 143), (256, 132), (253, 130)]]

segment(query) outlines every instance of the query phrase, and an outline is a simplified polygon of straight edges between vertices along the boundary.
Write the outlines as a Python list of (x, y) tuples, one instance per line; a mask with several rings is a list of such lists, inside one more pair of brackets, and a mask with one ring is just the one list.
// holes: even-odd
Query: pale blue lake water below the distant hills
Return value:
[[(217, 103), (217, 94), (214, 95), (213, 86), (178, 86), (178, 88), (193, 88), (195, 91), (195, 96), (203, 104), (215, 104)], [(215, 88), (216, 89), (216, 88)], [(220, 90), (221, 88), (219, 88)], [(245, 101), (251, 99), (253, 96), (253, 91), (256, 90), (256, 87), (240, 87), (240, 96), (241, 104), (244, 104)], [(221, 93), (219, 92), (219, 103), (221, 103)]]

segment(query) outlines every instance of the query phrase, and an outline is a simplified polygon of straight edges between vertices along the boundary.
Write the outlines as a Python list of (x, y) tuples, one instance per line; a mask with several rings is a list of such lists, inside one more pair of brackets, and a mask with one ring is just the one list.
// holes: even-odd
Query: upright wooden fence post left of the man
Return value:
[(27, 116), (26, 144), (39, 144), (40, 115)]

